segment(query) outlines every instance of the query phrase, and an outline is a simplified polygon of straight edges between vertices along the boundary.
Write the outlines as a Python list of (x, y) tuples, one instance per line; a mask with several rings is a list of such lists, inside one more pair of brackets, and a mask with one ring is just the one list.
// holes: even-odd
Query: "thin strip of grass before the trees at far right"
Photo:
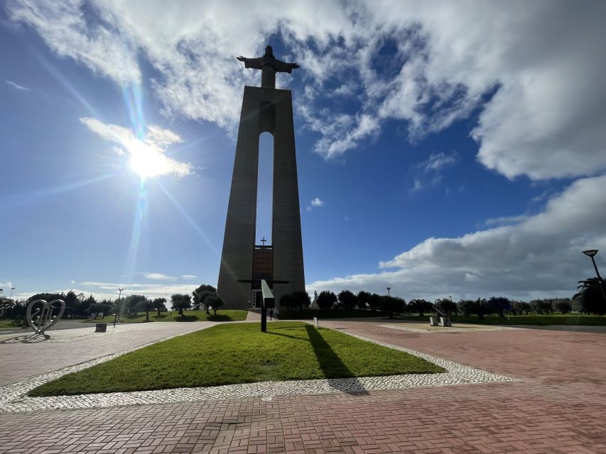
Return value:
[[(593, 316), (586, 314), (549, 314), (549, 315), (520, 315), (520, 316), (484, 316), (484, 320), (480, 320), (477, 316), (456, 316), (453, 315), (454, 323), (477, 323), (480, 325), (568, 325), (568, 326), (606, 326), (606, 316)], [(396, 319), (411, 320), (411, 321), (429, 321), (429, 316), (396, 316)]]

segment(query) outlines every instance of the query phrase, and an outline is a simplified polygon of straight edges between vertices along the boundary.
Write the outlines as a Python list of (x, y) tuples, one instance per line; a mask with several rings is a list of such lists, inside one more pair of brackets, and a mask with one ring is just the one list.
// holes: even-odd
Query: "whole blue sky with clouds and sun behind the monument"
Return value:
[(235, 57), (268, 43), (301, 65), (277, 84), (295, 103), (310, 292), (531, 299), (593, 274), (605, 4), (269, 4), (4, 4), (5, 292), (216, 284), (243, 87), (260, 80)]

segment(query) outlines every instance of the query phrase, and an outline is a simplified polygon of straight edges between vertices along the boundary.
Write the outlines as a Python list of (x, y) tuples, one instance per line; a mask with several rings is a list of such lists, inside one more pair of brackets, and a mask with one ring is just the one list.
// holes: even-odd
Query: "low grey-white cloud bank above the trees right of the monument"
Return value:
[(593, 276), (580, 253), (606, 248), (606, 175), (579, 179), (551, 196), (545, 209), (460, 238), (428, 238), (392, 260), (379, 262), (373, 274), (313, 282), (308, 291), (371, 290), (407, 299), (568, 296), (576, 282)]

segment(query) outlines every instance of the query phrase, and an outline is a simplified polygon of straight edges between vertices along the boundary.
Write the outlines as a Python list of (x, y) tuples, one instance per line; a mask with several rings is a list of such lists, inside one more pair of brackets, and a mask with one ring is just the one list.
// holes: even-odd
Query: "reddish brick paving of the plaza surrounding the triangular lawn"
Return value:
[[(0, 453), (606, 453), (604, 334), (321, 323), (521, 381), (0, 413)], [(39, 344), (0, 336), (1, 384), (205, 326), (50, 331)]]

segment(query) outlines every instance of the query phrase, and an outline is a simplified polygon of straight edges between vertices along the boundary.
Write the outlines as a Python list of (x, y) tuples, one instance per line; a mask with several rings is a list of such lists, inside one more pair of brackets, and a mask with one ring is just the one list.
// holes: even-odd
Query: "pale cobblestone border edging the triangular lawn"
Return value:
[[(196, 322), (193, 322), (196, 323)], [(202, 322), (203, 323), (203, 322)], [(160, 323), (149, 323), (148, 325), (159, 325)], [(166, 323), (169, 324), (169, 323)], [(181, 323), (170, 323), (171, 325), (180, 325)], [(185, 324), (185, 323), (183, 323)], [(187, 323), (189, 325), (189, 323)], [(206, 326), (191, 327), (189, 331), (197, 331), (200, 328), (206, 328), (214, 323), (207, 323)], [(154, 326), (151, 326), (154, 328)], [(148, 328), (148, 329), (151, 329)], [(164, 333), (163, 338), (178, 336), (188, 331), (175, 333), (173, 336), (166, 336), (166, 328), (159, 327), (159, 331)], [(136, 328), (132, 328), (133, 331)], [(73, 331), (73, 330), (72, 330)], [(395, 350), (401, 350), (412, 355), (419, 356), (430, 362), (433, 362), (447, 370), (446, 373), (440, 374), (411, 374), (411, 375), (391, 375), (386, 377), (357, 377), (343, 379), (323, 379), (323, 380), (298, 380), (290, 382), (257, 382), (246, 384), (230, 384), (219, 387), (195, 387), (195, 388), (178, 388), (178, 389), (161, 389), (155, 391), (140, 391), (140, 392), (115, 392), (102, 394), (80, 394), (77, 396), (58, 396), (58, 397), (27, 397), (29, 390), (40, 386), (50, 380), (55, 380), (65, 374), (76, 372), (78, 370), (97, 365), (101, 362), (111, 360), (119, 355), (141, 348), (148, 345), (149, 340), (140, 345), (131, 345), (129, 348), (117, 351), (110, 355), (104, 355), (94, 360), (81, 362), (77, 365), (63, 367), (55, 372), (45, 373), (36, 377), (30, 377), (26, 380), (21, 380), (11, 384), (6, 384), (0, 387), (0, 411), (33, 411), (40, 409), (82, 409), (82, 408), (97, 408), (119, 405), (134, 405), (134, 404), (161, 404), (172, 402), (198, 402), (209, 399), (239, 399), (245, 397), (268, 397), (268, 396), (283, 396), (296, 394), (332, 394), (332, 393), (350, 393), (364, 392), (369, 390), (379, 389), (401, 389), (408, 387), (427, 387), (427, 386), (445, 386), (451, 384), (471, 384), (485, 382), (514, 382), (518, 381), (512, 377), (493, 374), (485, 370), (480, 370), (475, 367), (459, 364), (442, 358), (437, 358), (425, 353), (418, 353), (407, 348), (402, 348), (381, 341), (374, 341), (370, 338), (364, 338), (352, 333), (345, 333), (349, 336), (370, 341), (383, 345)], [(87, 342), (89, 336), (78, 341), (75, 339), (71, 346), (75, 343)], [(158, 339), (158, 341), (163, 340)], [(95, 340), (95, 341), (98, 341)], [(48, 341), (47, 341), (48, 342)], [(46, 342), (45, 342), (46, 343)], [(62, 345), (54, 343), (53, 345)], [(80, 350), (80, 348), (78, 348)], [(52, 353), (48, 350), (46, 353)]]

